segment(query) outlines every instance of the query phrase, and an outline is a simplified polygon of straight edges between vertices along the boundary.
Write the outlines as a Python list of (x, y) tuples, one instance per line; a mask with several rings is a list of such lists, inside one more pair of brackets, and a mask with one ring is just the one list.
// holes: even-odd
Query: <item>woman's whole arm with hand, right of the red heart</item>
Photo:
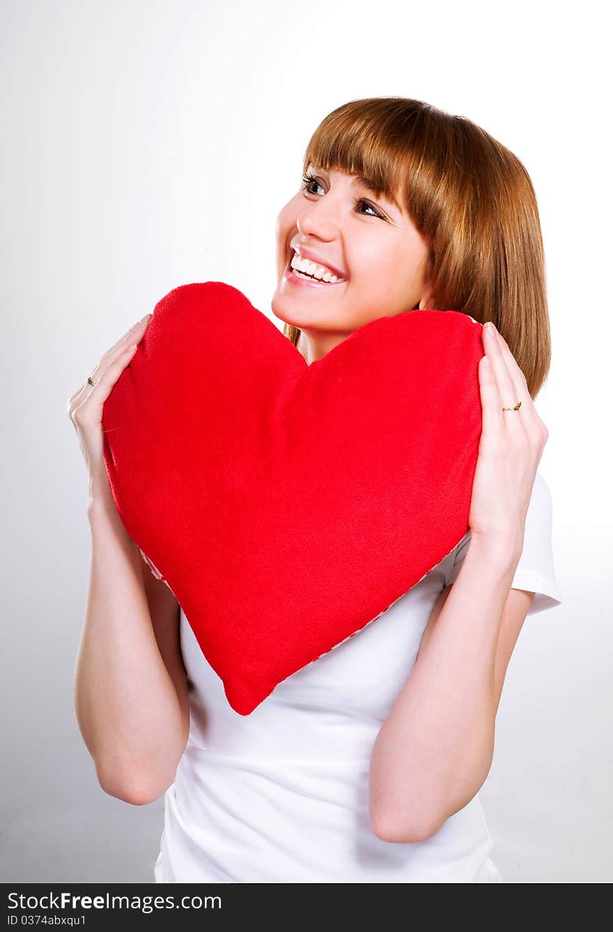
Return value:
[(504, 338), (490, 324), (482, 336), (469, 550), (371, 757), (371, 824), (386, 841), (429, 838), (483, 785), (499, 690), (532, 598), (511, 583), (549, 434)]

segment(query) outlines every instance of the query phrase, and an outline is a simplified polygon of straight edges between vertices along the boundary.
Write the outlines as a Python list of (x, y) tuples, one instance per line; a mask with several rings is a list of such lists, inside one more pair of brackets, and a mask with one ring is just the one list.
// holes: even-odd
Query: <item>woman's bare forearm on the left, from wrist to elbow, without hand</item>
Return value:
[(183, 751), (176, 690), (157, 647), (141, 559), (115, 508), (89, 502), (91, 565), (75, 667), (79, 729), (111, 795), (134, 801), (168, 785)]

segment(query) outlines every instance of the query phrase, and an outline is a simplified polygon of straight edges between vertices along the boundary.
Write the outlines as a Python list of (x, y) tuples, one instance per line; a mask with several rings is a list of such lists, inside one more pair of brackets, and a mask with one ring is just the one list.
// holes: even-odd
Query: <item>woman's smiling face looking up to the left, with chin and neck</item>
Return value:
[[(314, 180), (277, 218), (272, 311), (301, 329), (298, 349), (312, 363), (364, 323), (428, 307), (430, 295), (428, 246), (404, 212), (356, 175), (316, 166), (307, 175)], [(340, 281), (296, 276), (294, 249), (332, 266)]]

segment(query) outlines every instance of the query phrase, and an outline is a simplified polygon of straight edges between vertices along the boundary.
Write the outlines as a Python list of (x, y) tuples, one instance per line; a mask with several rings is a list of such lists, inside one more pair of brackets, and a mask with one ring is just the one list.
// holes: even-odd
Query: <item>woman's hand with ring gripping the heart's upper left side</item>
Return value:
[(72, 420), (89, 469), (90, 483), (102, 482), (108, 488), (108, 474), (102, 453), (102, 408), (117, 379), (128, 365), (143, 337), (151, 314), (133, 324), (127, 334), (107, 349), (91, 373), (95, 385), (85, 383), (68, 399), (68, 417)]

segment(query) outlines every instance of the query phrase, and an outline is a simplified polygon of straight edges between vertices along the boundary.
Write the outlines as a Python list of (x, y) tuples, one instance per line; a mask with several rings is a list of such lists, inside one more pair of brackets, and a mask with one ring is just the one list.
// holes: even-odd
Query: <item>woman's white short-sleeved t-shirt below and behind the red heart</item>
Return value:
[[(164, 796), (156, 883), (503, 883), (478, 795), (424, 842), (377, 838), (368, 818), (376, 734), (415, 665), (470, 533), (387, 611), (283, 680), (251, 715), (228, 705), (181, 612), (190, 732)], [(552, 500), (537, 478), (512, 587), (529, 614), (558, 605)]]

